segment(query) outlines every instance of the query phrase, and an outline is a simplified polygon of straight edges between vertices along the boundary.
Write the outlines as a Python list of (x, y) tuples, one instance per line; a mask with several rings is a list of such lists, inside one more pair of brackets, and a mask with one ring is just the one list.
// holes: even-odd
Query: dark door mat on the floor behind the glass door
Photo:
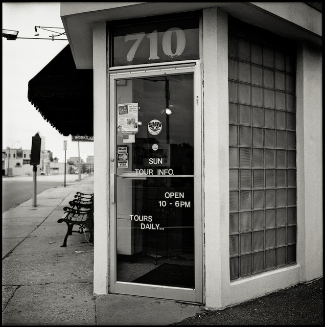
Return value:
[(194, 288), (194, 266), (162, 264), (132, 283)]

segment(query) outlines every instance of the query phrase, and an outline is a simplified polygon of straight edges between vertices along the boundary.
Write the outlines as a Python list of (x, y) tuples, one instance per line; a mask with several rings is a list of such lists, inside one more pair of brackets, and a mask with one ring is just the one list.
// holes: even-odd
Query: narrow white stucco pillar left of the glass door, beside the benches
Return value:
[(94, 25), (94, 294), (108, 292), (109, 199), (106, 24)]

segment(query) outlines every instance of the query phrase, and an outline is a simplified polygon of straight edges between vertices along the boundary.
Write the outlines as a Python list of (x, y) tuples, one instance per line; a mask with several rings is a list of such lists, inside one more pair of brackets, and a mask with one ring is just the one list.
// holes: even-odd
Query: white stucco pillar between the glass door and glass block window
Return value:
[(227, 14), (203, 10), (204, 256), (207, 307), (222, 306), (229, 284)]

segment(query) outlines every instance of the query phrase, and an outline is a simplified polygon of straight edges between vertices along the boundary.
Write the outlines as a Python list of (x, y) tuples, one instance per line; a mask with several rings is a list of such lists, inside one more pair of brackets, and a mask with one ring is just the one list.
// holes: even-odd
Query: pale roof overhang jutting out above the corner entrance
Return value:
[(218, 7), (283, 37), (321, 46), (322, 13), (303, 2), (87, 2), (61, 3), (61, 18), (77, 69), (92, 69), (92, 28), (97, 22)]

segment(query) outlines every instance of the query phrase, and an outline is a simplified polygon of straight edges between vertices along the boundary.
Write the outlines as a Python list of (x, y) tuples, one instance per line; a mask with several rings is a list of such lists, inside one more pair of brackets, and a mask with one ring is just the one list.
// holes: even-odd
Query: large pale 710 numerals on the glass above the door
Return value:
[[(173, 33), (176, 36), (176, 50), (175, 52), (172, 51), (172, 36)], [(127, 34), (125, 35), (125, 42), (130, 40), (135, 40), (131, 49), (129, 50), (126, 59), (127, 61), (132, 61), (135, 53), (140, 46), (141, 41), (145, 37), (145, 32), (140, 32), (136, 34)], [(154, 30), (152, 33), (147, 35), (149, 38), (149, 60), (157, 60), (158, 57), (158, 33), (157, 30)], [(183, 30), (178, 27), (173, 27), (167, 30), (164, 35), (162, 36), (162, 51), (164, 51), (165, 55), (170, 57), (180, 56), (186, 45), (186, 36)]]

